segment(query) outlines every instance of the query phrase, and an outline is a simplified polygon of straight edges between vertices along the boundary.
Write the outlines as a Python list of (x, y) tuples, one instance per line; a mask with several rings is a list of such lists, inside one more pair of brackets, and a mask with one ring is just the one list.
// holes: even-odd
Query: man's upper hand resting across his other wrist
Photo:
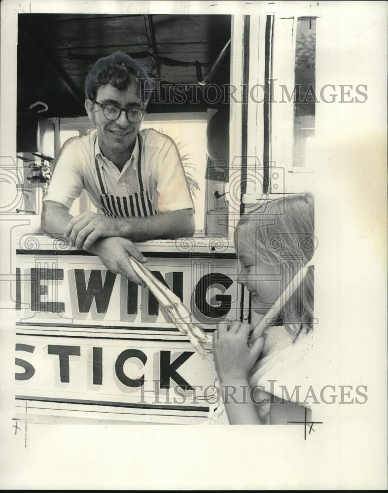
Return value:
[(121, 236), (121, 228), (122, 219), (86, 211), (69, 221), (66, 234), (71, 238), (71, 245), (88, 250), (99, 238)]

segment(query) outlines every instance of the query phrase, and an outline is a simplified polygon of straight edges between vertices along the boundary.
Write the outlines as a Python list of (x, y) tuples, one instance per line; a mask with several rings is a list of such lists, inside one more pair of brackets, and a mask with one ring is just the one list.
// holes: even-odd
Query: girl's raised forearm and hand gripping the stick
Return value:
[(251, 395), (248, 373), (264, 347), (265, 334), (248, 347), (252, 328), (238, 320), (231, 324), (221, 322), (213, 335), (214, 359), (230, 424), (262, 424)]

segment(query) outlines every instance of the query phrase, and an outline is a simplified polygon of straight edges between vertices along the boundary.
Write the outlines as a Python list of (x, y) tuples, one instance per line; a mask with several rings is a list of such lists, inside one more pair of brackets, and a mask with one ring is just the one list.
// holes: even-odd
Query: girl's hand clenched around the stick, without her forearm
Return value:
[(263, 350), (265, 337), (259, 337), (248, 347), (253, 330), (250, 323), (220, 322), (213, 334), (214, 360), (221, 382), (247, 380), (248, 373)]

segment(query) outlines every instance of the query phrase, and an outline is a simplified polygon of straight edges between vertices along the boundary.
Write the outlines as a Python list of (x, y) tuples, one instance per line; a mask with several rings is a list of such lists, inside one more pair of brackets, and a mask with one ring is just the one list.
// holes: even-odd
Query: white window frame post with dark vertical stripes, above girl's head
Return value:
[(258, 102), (252, 99), (252, 94), (248, 98), (247, 162), (248, 169), (252, 166), (249, 163), (255, 162), (256, 180), (252, 183), (247, 176), (245, 204), (255, 203), (264, 196), (314, 190), (314, 169), (292, 167), (294, 103), (274, 103), (282, 100), (279, 84), (291, 90), (294, 87), (295, 32), (299, 17), (306, 16), (284, 13), (250, 16), (249, 88), (260, 82), (265, 87), (264, 94), (258, 93), (262, 98), (256, 96)]

